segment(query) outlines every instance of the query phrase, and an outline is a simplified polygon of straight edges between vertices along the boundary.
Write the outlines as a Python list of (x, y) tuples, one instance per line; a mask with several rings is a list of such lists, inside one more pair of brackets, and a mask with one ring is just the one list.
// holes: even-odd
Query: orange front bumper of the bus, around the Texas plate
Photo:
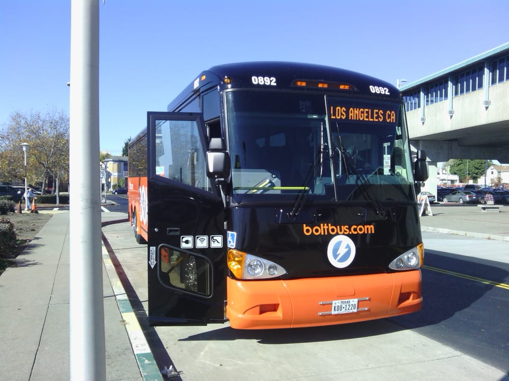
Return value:
[[(382, 319), (420, 310), (420, 270), (390, 274), (291, 280), (235, 280), (227, 278), (226, 314), (232, 328), (264, 329), (313, 327)], [(331, 302), (361, 299), (367, 310), (331, 311)]]

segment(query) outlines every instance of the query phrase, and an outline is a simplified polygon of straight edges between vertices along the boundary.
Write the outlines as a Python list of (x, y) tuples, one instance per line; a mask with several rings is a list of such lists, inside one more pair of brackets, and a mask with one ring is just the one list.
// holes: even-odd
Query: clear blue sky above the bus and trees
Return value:
[[(220, 63), (312, 62), (395, 84), (509, 41), (507, 0), (98, 3), (100, 148), (111, 154)], [(0, 0), (0, 125), (14, 111), (69, 113), (70, 6)]]

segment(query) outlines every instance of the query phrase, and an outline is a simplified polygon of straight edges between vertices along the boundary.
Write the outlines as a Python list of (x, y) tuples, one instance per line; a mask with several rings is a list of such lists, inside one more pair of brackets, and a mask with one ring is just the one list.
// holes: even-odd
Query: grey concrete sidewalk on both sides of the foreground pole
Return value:
[[(54, 212), (17, 262), (0, 276), (0, 379), (69, 380), (69, 212)], [(142, 380), (108, 273), (103, 268), (106, 379)]]

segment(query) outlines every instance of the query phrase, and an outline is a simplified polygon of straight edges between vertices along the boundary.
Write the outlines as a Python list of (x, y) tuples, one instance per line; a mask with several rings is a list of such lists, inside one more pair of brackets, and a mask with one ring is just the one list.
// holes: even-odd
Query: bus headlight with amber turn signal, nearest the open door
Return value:
[(238, 279), (275, 278), (286, 274), (277, 263), (234, 249), (228, 250), (228, 268)]

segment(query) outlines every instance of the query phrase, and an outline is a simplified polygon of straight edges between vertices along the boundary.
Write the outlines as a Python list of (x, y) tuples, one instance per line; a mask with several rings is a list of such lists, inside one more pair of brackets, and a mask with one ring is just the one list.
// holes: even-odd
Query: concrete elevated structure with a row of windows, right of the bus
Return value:
[[(437, 162), (451, 158), (509, 163), (509, 43), (400, 91), (410, 143), (426, 150), (430, 175), (436, 174)], [(435, 193), (432, 176), (426, 188)]]

